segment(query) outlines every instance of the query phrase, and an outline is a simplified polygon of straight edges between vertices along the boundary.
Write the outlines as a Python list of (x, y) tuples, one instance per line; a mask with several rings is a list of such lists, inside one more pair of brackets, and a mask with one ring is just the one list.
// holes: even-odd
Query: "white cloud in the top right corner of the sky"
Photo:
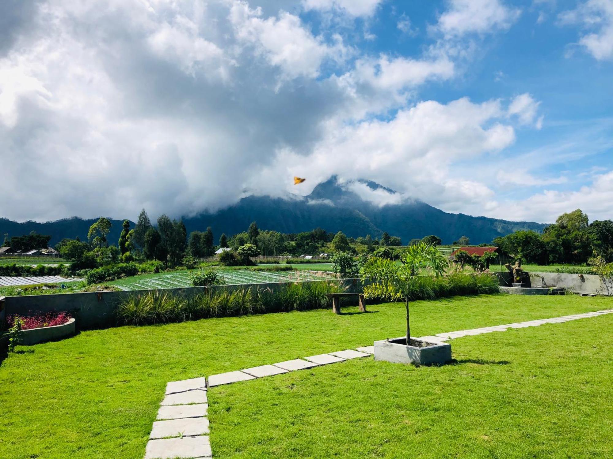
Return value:
[(613, 59), (613, 0), (588, 0), (559, 15), (562, 24), (581, 24), (586, 33), (579, 44), (598, 61)]

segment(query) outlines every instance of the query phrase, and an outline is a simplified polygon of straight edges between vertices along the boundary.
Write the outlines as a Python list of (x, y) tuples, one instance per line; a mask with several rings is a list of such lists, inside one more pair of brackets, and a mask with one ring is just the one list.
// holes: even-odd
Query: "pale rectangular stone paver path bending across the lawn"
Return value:
[[(442, 343), (465, 336), (504, 332), (512, 328), (538, 327), (545, 324), (557, 324), (612, 313), (613, 309), (604, 309), (584, 314), (530, 320), (470, 330), (457, 330), (414, 339)], [(240, 371), (229, 371), (228, 373), (209, 376), (208, 386), (207, 379), (204, 376), (202, 378), (168, 383), (166, 395), (159, 408), (158, 420), (153, 423), (150, 440), (147, 443), (145, 459), (212, 457), (208, 438), (208, 387), (248, 381), (249, 379), (265, 378), (266, 376), (280, 375), (288, 371), (306, 370), (307, 368), (318, 367), (319, 365), (335, 364), (337, 362), (345, 362), (348, 359), (368, 357), (374, 353), (375, 346), (364, 346), (356, 349), (345, 349), (345, 351), (304, 357), (304, 359), (286, 360), (278, 364), (261, 365), (259, 367), (245, 368), (245, 370)]]

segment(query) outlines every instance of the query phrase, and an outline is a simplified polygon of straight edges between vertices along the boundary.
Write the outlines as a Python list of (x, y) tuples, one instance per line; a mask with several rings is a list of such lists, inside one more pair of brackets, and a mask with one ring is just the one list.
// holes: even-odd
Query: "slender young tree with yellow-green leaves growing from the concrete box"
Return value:
[(404, 300), (406, 308), (406, 345), (410, 345), (411, 326), (409, 323), (409, 288), (418, 274), (440, 277), (445, 274), (449, 263), (446, 256), (435, 245), (420, 242), (411, 245), (402, 258), (400, 265), (389, 259), (375, 259), (365, 266), (362, 280), (371, 283), (364, 286), (366, 298), (385, 298)]

